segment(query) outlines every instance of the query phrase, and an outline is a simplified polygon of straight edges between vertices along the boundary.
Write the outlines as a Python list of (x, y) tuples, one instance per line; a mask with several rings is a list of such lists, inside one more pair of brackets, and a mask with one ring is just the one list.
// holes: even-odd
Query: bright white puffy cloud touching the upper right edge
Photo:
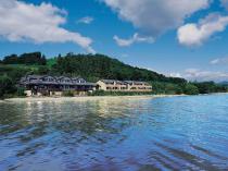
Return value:
[(198, 24), (190, 23), (179, 27), (177, 37), (183, 46), (200, 46), (215, 33), (225, 30), (228, 16), (210, 14)]

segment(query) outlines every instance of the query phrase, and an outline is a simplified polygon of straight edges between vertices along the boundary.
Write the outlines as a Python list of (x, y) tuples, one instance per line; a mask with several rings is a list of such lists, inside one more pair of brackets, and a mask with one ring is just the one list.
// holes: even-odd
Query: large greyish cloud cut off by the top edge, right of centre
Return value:
[(205, 9), (210, 0), (101, 0), (121, 19), (140, 28), (143, 34), (157, 36), (183, 24), (185, 19)]

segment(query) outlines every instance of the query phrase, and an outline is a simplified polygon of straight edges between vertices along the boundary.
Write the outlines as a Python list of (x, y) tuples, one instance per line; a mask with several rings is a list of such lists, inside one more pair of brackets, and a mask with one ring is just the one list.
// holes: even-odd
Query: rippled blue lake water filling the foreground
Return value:
[(228, 170), (228, 95), (0, 102), (0, 170)]

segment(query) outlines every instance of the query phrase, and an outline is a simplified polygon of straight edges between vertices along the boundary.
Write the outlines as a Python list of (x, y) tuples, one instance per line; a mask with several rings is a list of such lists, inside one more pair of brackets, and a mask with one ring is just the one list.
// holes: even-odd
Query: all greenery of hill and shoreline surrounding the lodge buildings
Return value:
[[(111, 93), (96, 90), (88, 96), (198, 95), (227, 93), (228, 86), (214, 82), (188, 82), (125, 64), (103, 54), (73, 54), (47, 58), (41, 52), (10, 54), (0, 61), (0, 98), (24, 97), (18, 81), (25, 75), (81, 76), (89, 82), (99, 80), (143, 81), (152, 85), (150, 93)], [(72, 96), (71, 91), (64, 96)]]

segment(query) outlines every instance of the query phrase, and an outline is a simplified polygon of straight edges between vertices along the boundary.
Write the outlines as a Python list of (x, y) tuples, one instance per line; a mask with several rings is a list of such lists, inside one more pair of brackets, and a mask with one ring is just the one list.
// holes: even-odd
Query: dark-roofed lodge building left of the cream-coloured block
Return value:
[(26, 88), (27, 96), (62, 96), (63, 91), (86, 95), (96, 90), (97, 84), (88, 83), (81, 77), (27, 75), (22, 77), (20, 86)]

